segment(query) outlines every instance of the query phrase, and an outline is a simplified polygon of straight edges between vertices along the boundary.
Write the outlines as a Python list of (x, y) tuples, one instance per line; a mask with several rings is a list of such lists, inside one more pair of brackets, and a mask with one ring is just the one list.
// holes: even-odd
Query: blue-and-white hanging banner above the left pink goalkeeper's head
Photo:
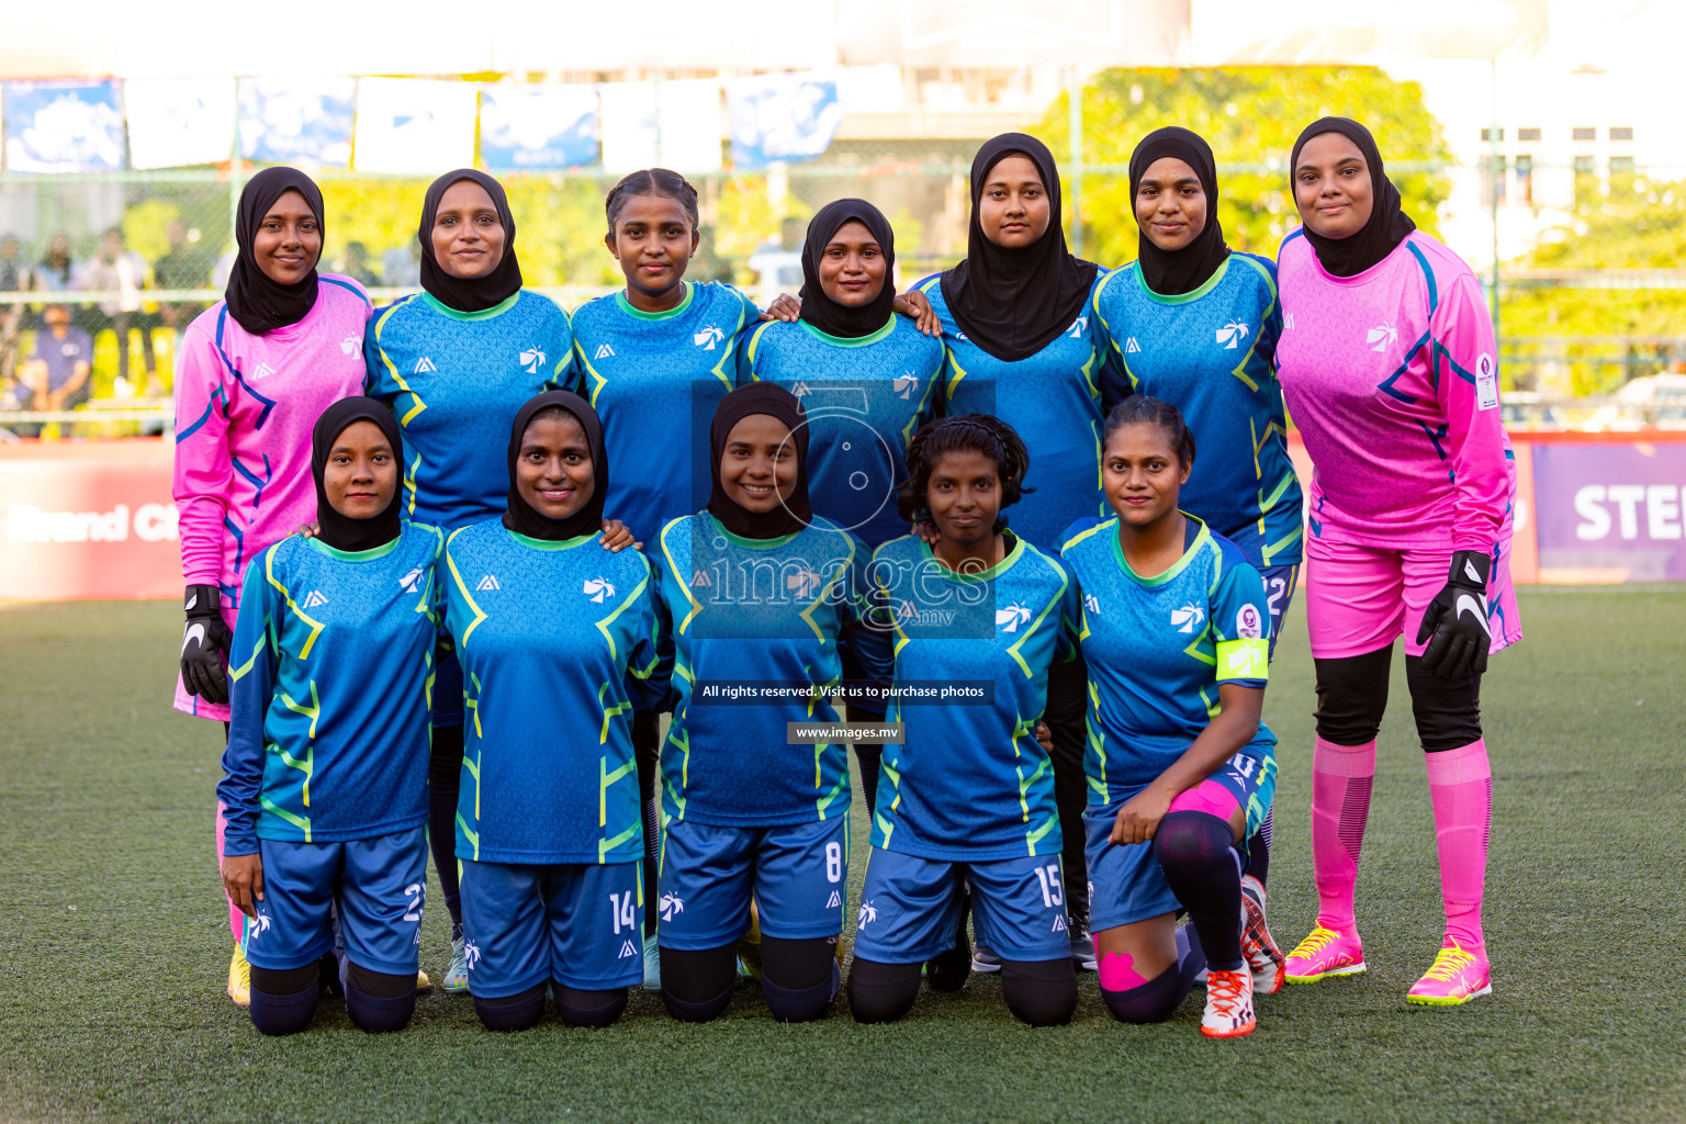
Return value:
[(349, 169), (356, 93), (351, 78), (239, 79), (239, 155)]

